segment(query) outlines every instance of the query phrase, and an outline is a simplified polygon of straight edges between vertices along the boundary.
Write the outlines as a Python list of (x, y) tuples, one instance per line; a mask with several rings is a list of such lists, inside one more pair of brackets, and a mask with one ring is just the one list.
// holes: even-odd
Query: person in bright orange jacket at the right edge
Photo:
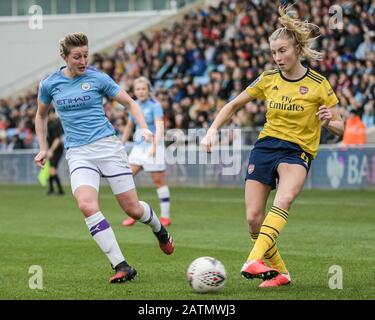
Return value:
[(342, 142), (344, 145), (363, 145), (366, 143), (366, 126), (355, 109), (349, 111)]

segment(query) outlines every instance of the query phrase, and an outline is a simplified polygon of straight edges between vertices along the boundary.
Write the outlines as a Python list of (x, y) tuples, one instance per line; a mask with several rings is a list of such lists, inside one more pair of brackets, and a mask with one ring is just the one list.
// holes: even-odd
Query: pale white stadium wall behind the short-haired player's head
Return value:
[(166, 10), (46, 16), (42, 29), (31, 29), (30, 17), (1, 18), (0, 98), (35, 86), (61, 65), (58, 41), (69, 32), (85, 32), (92, 54), (174, 14)]

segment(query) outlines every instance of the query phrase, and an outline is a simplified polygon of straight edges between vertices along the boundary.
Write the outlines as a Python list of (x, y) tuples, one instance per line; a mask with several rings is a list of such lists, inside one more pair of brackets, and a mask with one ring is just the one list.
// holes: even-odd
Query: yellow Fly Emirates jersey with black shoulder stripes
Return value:
[(297, 80), (284, 78), (278, 70), (265, 71), (246, 91), (253, 98), (267, 101), (266, 123), (259, 138), (297, 143), (315, 158), (320, 141), (318, 108), (338, 103), (325, 77), (311, 69)]

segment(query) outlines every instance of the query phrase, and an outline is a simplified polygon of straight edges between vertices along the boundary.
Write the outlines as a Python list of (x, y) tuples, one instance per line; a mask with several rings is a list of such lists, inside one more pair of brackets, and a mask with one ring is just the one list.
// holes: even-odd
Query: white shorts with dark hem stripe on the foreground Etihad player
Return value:
[(99, 191), (100, 177), (108, 180), (113, 194), (135, 188), (128, 156), (116, 136), (69, 148), (65, 157), (73, 194), (78, 187), (84, 185)]

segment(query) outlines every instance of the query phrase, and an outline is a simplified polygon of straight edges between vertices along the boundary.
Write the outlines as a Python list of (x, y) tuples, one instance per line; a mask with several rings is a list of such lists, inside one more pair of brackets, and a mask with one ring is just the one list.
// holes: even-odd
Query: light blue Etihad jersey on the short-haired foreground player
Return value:
[(60, 68), (39, 85), (38, 100), (53, 100), (65, 132), (65, 147), (78, 147), (115, 134), (105, 116), (103, 96), (114, 97), (120, 87), (107, 74), (88, 67), (85, 73), (68, 78)]

